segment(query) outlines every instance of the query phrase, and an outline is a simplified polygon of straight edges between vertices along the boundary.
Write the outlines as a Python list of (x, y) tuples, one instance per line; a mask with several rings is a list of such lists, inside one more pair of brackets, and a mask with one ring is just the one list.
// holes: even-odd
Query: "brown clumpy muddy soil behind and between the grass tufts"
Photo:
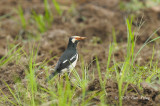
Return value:
[[(68, 37), (79, 35), (87, 37), (85, 41), (78, 45), (78, 52), (83, 56), (85, 64), (90, 64), (97, 56), (101, 65), (101, 70), (105, 71), (109, 44), (113, 41), (113, 28), (116, 31), (117, 44), (119, 45), (119, 48), (114, 51), (114, 57), (116, 61), (123, 61), (126, 55), (126, 17), (134, 15), (133, 29), (138, 29), (141, 26), (141, 22), (144, 22), (139, 31), (136, 30), (135, 32), (137, 36), (136, 51), (144, 44), (148, 37), (160, 27), (160, 9), (157, 7), (145, 8), (136, 12), (128, 12), (127, 10), (120, 9), (120, 0), (76, 0), (74, 1), (75, 8), (72, 12), (68, 12), (73, 1), (58, 1), (62, 5), (64, 13), (62, 16), (58, 16), (54, 8), (51, 7), (52, 12), (54, 13), (54, 22), (52, 23), (51, 28), (40, 35), (42, 38), (35, 41), (29, 39), (27, 34), (32, 33), (32, 35), (36, 37), (36, 31), (34, 30), (36, 29), (36, 26), (32, 23), (27, 26), (26, 30), (23, 30), (16, 9), (18, 5), (21, 5), (24, 10), (24, 16), (29, 21), (32, 10), (35, 10), (37, 13), (44, 13), (43, 0), (1, 0), (0, 58), (7, 53), (9, 43), (17, 44), (21, 42), (25, 51), (29, 53), (30, 45), (36, 42), (36, 44), (39, 43), (40, 45), (36, 62), (40, 63), (45, 59), (56, 56), (56, 58), (47, 64), (49, 67), (54, 67), (59, 56), (67, 46)], [(130, 0), (123, 1), (130, 2)], [(155, 37), (158, 36), (160, 36), (160, 31), (155, 35)], [(139, 65), (145, 65), (150, 61), (153, 45), (156, 50), (153, 60), (156, 61), (157, 58), (159, 58), (159, 41), (156, 41), (146, 46), (137, 57), (136, 62)], [(0, 68), (0, 89), (6, 94), (9, 91), (3, 81), (7, 82), (7, 84), (13, 88), (15, 78), (23, 80), (25, 77), (25, 69), (28, 66), (27, 58), (22, 58), (19, 63), (20, 64), (17, 65), (13, 61)], [(113, 62), (111, 61), (111, 65), (112, 63)], [(80, 71), (80, 66), (81, 63), (79, 61), (76, 66), (78, 71)], [(89, 68), (89, 72), (96, 70), (95, 68), (96, 63), (93, 62)], [(44, 79), (45, 76), (39, 77), (39, 80)], [(138, 93), (138, 90), (136, 90), (138, 89), (137, 86), (129, 85), (128, 91), (132, 89), (132, 92), (125, 93), (123, 104), (127, 106), (160, 104), (159, 92), (148, 86), (149, 85), (142, 83), (144, 89)], [(95, 79), (91, 82), (88, 90), (101, 90), (99, 81)], [(108, 104), (116, 104), (118, 101), (118, 85), (114, 79), (107, 81), (106, 90), (108, 92), (108, 97), (106, 98)], [(99, 100), (96, 98), (95, 101), (96, 103), (99, 103)]]

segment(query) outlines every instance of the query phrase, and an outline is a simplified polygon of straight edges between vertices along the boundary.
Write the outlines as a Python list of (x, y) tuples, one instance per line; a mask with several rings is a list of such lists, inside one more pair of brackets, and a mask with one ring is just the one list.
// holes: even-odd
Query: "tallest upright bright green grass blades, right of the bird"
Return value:
[(122, 65), (121, 68), (121, 73), (117, 74), (118, 75), (118, 90), (119, 90), (119, 105), (122, 106), (122, 97), (125, 93), (125, 90), (127, 88), (127, 85), (122, 89), (123, 82), (124, 82), (124, 77), (127, 75), (126, 71), (132, 71), (133, 66), (130, 66), (133, 61), (133, 56), (134, 56), (134, 47), (135, 47), (135, 42), (134, 42), (134, 33), (132, 33), (132, 20), (129, 21), (128, 19), (126, 20), (127, 23), (127, 32), (128, 32), (128, 42), (127, 42), (127, 56), (125, 58), (125, 61)]

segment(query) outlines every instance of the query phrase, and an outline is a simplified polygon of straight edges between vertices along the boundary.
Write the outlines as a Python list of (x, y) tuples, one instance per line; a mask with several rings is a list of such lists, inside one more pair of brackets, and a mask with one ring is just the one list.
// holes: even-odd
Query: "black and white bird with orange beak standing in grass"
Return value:
[(51, 80), (57, 74), (65, 72), (70, 73), (74, 69), (78, 60), (78, 53), (76, 49), (77, 44), (80, 40), (83, 40), (85, 38), (86, 37), (80, 37), (80, 36), (71, 36), (69, 38), (67, 49), (57, 62), (54, 68), (54, 72), (52, 72), (52, 74), (46, 81)]

